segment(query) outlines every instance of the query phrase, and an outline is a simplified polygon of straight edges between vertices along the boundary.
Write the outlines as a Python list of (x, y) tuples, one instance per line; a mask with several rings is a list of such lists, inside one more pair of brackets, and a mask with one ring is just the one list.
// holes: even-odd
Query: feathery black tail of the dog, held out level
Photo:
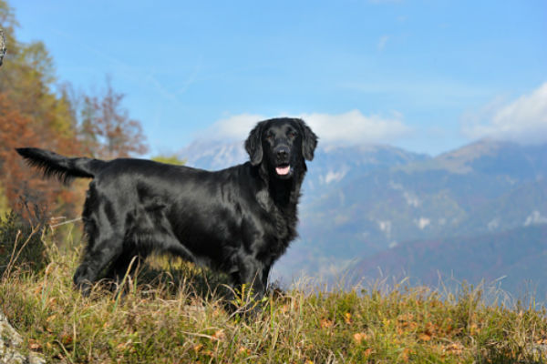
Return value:
[(45, 177), (57, 177), (67, 184), (75, 177), (93, 178), (107, 162), (86, 157), (69, 158), (33, 147), (15, 148), (26, 162), (44, 172)]

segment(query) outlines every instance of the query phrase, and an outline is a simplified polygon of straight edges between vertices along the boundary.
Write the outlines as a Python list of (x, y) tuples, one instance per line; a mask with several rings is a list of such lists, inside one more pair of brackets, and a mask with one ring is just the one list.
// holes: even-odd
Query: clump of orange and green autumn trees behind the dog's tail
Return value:
[[(0, 67), (0, 211), (21, 196), (61, 215), (79, 213), (85, 183), (63, 187), (26, 167), (15, 147), (43, 147), (66, 156), (125, 157), (144, 153), (140, 124), (108, 82), (102, 96), (79, 99), (59, 86), (53, 59), (41, 42), (15, 37), (13, 9), (0, 0), (0, 28), (9, 46)], [(79, 104), (77, 103), (79, 102)], [(81, 107), (80, 107), (81, 106)]]

